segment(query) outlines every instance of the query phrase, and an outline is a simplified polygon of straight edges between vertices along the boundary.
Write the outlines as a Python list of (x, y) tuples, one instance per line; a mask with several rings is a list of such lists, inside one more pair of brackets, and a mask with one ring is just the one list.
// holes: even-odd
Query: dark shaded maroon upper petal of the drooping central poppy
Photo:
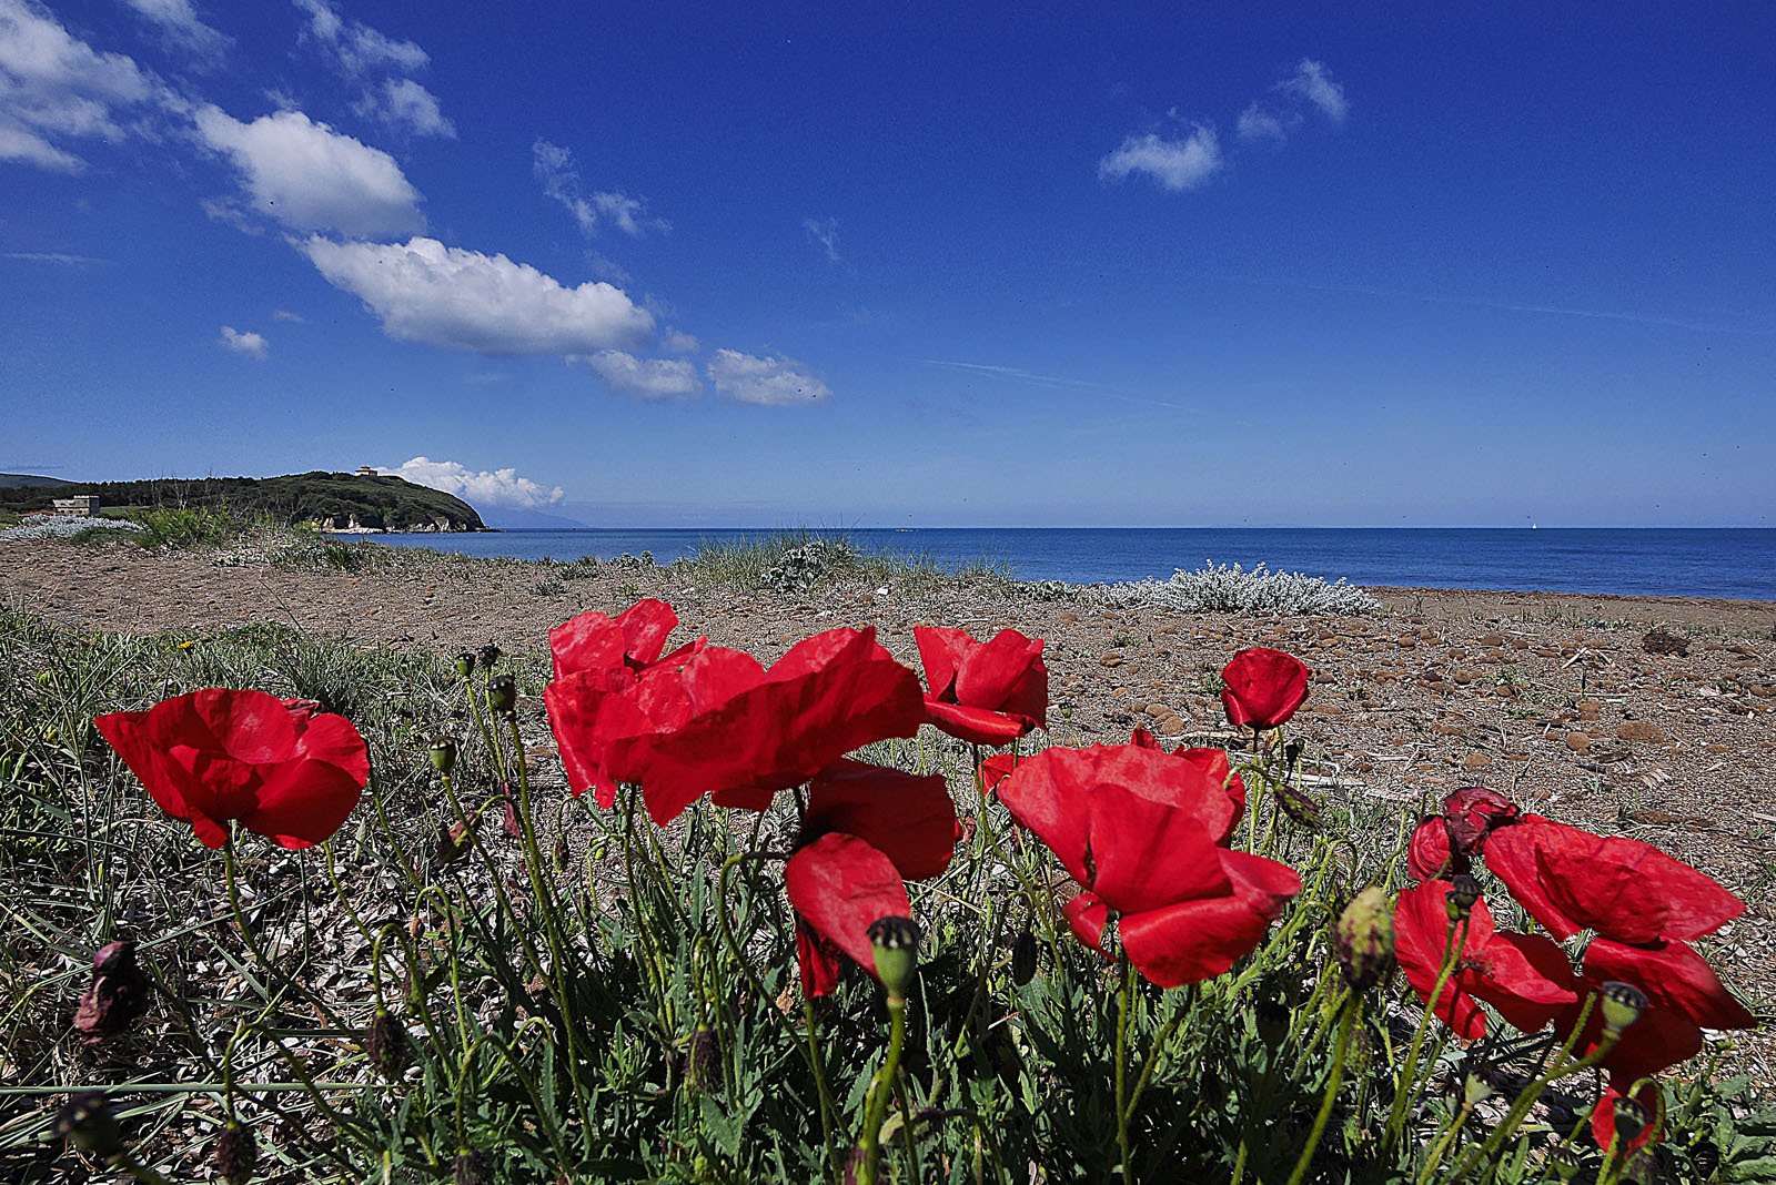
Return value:
[(808, 784), (808, 834), (844, 832), (893, 860), (906, 880), (936, 876), (955, 855), (955, 802), (941, 775), (835, 761)]

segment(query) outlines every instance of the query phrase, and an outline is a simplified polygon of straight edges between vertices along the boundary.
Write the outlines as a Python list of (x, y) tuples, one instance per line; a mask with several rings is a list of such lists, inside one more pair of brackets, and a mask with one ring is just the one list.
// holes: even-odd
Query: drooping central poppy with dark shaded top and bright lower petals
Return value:
[(783, 869), (803, 992), (838, 985), (840, 953), (876, 974), (870, 922), (909, 917), (904, 882), (940, 875), (954, 853), (955, 804), (941, 777), (861, 761), (821, 770)]

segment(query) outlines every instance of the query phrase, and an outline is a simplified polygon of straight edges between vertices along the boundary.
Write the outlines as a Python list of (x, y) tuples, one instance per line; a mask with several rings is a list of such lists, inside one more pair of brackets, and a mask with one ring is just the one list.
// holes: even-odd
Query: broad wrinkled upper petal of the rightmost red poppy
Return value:
[(1490, 867), (1556, 938), (1595, 930), (1618, 942), (1691, 942), (1746, 912), (1714, 878), (1637, 839), (1526, 814), (1487, 841)]

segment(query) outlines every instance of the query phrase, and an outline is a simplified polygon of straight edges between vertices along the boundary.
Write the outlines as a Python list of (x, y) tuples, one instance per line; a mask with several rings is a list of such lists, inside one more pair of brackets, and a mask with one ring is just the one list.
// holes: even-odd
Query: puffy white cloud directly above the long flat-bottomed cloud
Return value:
[(302, 112), (243, 124), (218, 106), (204, 106), (197, 133), (234, 161), (254, 208), (293, 231), (377, 236), (424, 227), (419, 192), (392, 156)]

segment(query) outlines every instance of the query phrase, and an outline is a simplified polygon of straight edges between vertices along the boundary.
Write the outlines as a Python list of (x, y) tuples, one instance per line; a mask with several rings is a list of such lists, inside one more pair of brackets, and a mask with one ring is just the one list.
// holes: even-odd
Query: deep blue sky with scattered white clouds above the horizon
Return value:
[(1771, 525), (1769, 9), (1327, 7), (0, 0), (0, 470)]

